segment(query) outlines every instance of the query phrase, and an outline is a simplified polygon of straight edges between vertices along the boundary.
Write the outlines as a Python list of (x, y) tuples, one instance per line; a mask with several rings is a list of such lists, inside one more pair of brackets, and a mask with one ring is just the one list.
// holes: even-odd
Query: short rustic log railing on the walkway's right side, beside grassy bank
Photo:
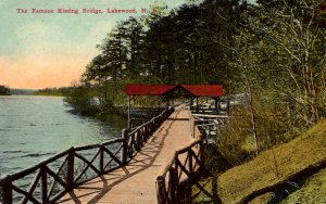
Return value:
[(192, 116), (189, 119), (192, 137), (196, 139), (190, 145), (177, 150), (171, 163), (156, 178), (156, 196), (159, 204), (179, 203), (180, 186), (192, 179), (204, 167), (203, 140), (196, 127)]

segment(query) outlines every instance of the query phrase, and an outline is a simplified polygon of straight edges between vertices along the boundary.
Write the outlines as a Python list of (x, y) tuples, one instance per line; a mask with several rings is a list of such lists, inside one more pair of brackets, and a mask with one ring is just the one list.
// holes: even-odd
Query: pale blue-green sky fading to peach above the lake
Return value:
[[(155, 0), (0, 0), (0, 85), (11, 88), (70, 86), (80, 78), (96, 48), (116, 22), (130, 14), (108, 9), (149, 9)], [(170, 9), (185, 0), (163, 0)], [(27, 13), (18, 13), (17, 9)], [(32, 13), (33, 9), (54, 13)], [(57, 13), (76, 9), (78, 14)], [(101, 9), (103, 14), (85, 14)]]

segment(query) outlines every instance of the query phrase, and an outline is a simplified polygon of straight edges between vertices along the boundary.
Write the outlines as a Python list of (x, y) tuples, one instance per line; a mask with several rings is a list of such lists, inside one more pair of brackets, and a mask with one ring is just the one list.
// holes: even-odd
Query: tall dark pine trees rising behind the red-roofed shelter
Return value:
[(164, 3), (155, 3), (154, 12), (118, 22), (86, 67), (80, 86), (97, 91), (88, 91), (84, 100), (99, 98), (100, 105), (121, 106), (121, 92), (115, 94), (110, 87), (123, 90), (127, 82), (224, 84), (228, 51), (212, 43), (211, 37), (228, 38), (234, 28), (218, 21), (215, 9), (231, 20), (239, 17), (233, 9), (237, 5), (236, 0), (208, 1), (168, 12)]

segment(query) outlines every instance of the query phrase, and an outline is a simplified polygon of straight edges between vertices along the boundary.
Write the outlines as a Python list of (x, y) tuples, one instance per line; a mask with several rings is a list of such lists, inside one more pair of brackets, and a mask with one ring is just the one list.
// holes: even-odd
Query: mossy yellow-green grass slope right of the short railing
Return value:
[[(304, 179), (316, 173), (316, 170), (312, 170), (313, 168), (323, 169), (323, 165), (318, 164), (325, 164), (326, 161), (324, 153), (326, 151), (325, 128), (326, 120), (323, 119), (290, 142), (274, 148), (279, 166), (279, 177), (275, 174), (273, 152), (266, 150), (246, 164), (222, 174), (213, 174), (211, 178), (193, 184), (191, 196), (196, 199), (193, 203), (213, 203), (214, 200), (220, 200), (217, 203), (279, 203), (277, 200), (279, 196), (288, 196), (294, 189), (290, 186), (276, 186), (276, 183), (284, 184), (290, 180), (291, 183), (300, 187)], [(301, 173), (301, 176), (294, 176), (299, 175), (298, 173)], [(318, 180), (321, 179), (323, 178), (319, 177)], [(305, 196), (304, 202), (323, 203), (325, 192), (318, 190), (318, 188), (325, 189), (322, 188), (322, 184), (325, 184), (325, 180), (322, 183), (313, 183), (313, 188), (315, 188), (313, 193), (309, 192), (306, 188), (302, 191), (296, 188), (298, 190), (296, 192), (301, 192), (300, 195), (312, 195)], [(267, 200), (243, 201), (243, 197), (248, 197), (253, 192), (262, 192), (263, 189), (265, 190), (263, 192), (273, 192), (272, 195), (276, 193), (276, 197), (271, 200), (274, 194), (272, 197), (265, 197)]]

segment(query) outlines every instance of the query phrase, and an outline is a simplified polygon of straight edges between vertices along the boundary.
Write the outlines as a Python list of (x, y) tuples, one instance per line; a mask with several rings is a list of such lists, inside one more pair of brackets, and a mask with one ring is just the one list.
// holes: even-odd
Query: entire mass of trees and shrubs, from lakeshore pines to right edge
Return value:
[[(172, 11), (164, 3), (152, 8), (118, 22), (98, 46), (67, 99), (76, 110), (122, 110), (126, 84), (222, 84), (228, 94), (248, 98), (233, 110), (220, 140), (224, 154), (234, 155), (231, 164), (325, 117), (319, 0), (191, 0)], [(158, 102), (139, 102), (146, 103)]]

